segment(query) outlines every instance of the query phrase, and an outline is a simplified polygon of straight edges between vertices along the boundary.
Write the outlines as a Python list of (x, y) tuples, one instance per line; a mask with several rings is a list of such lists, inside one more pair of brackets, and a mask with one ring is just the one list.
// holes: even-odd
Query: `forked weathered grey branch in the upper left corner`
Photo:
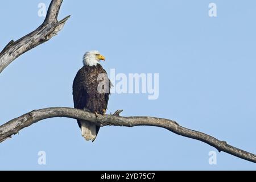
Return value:
[(23, 38), (15, 42), (11, 40), (11, 42), (7, 44), (0, 53), (0, 73), (17, 57), (57, 35), (70, 17), (69, 15), (63, 20), (60, 20), (60, 22), (57, 20), (62, 2), (63, 0), (52, 0), (47, 11), (46, 19), (42, 25), (30, 34), (23, 36)]

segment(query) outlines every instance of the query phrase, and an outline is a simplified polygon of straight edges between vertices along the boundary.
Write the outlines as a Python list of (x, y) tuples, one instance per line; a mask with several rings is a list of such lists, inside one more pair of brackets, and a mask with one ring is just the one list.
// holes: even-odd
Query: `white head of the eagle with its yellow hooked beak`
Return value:
[(100, 63), (100, 60), (105, 61), (105, 57), (100, 54), (98, 51), (88, 51), (84, 55), (84, 59), (82, 60), (82, 63), (84, 65), (87, 65), (89, 67), (96, 66)]

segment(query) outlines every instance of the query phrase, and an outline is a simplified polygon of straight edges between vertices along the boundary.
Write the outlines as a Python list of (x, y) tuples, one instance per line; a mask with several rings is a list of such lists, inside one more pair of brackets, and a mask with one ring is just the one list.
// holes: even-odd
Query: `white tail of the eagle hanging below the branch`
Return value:
[(86, 141), (89, 141), (89, 140), (94, 141), (97, 136), (96, 125), (86, 121), (80, 121), (80, 123), (81, 123), (82, 137), (84, 137)]

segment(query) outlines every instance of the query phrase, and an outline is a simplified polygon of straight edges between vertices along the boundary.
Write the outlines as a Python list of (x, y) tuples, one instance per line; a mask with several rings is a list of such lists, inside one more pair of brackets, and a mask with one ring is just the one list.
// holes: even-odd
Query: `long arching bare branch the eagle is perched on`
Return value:
[[(209, 144), (217, 148), (219, 152), (224, 151), (228, 154), (237, 156), (256, 163), (256, 155), (249, 152), (243, 151), (239, 148), (230, 146), (224, 141), (220, 141), (210, 135), (201, 133), (199, 131), (190, 130), (180, 126), (177, 122), (170, 119), (153, 118), (153, 117), (120, 117), (118, 114), (122, 110), (115, 112), (115, 115), (98, 115), (96, 119), (94, 113), (88, 111), (73, 109), (68, 107), (51, 107), (47, 109), (34, 110), (30, 113), (24, 114), (18, 118), (12, 119), (11, 121), (0, 126), (0, 142), (10, 138), (11, 135), (18, 133), (24, 127), (28, 127), (33, 123), (41, 121), (42, 119), (53, 118), (53, 117), (68, 117), (74, 119), (84, 119), (99, 126), (157, 126), (163, 127), (164, 129), (170, 130), (178, 135), (200, 140), (204, 143)], [(118, 113), (118, 114), (117, 114)]]

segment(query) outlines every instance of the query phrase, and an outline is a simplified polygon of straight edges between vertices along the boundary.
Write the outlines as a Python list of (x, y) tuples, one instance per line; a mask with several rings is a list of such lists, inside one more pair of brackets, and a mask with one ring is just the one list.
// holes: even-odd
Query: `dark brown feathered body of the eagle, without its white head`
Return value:
[[(98, 77), (100, 74), (105, 75), (105, 79), (102, 78), (102, 76)], [(105, 82), (105, 84), (102, 84), (102, 82)], [(104, 85), (108, 86), (108, 88), (105, 89), (105, 92), (102, 93), (102, 90), (98, 92), (99, 84), (103, 85), (101, 86), (102, 89), (104, 89)], [(109, 101), (110, 86), (111, 83), (106, 75), (106, 71), (100, 64), (92, 67), (85, 65), (79, 72), (77, 72), (73, 82), (73, 100), (75, 108), (89, 110), (93, 113), (105, 114)], [(96, 138), (96, 135), (100, 130), (99, 126), (79, 119), (77, 119), (77, 122), (81, 130), (84, 126), (87, 127), (90, 132), (94, 130), (95, 127), (96, 131), (92, 131), (92, 133), (94, 132), (94, 134), (92, 134), (94, 137), (84, 136), (86, 140), (94, 140)], [(88, 131), (85, 132), (88, 133)]]

